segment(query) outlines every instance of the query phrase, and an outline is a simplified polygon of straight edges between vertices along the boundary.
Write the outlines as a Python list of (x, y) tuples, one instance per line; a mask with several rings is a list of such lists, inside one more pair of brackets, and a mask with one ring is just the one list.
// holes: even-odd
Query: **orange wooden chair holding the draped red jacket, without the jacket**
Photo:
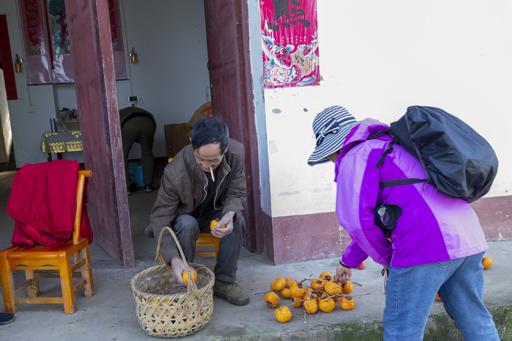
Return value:
[[(90, 170), (78, 171), (72, 239), (57, 246), (14, 245), (0, 251), (0, 281), (6, 312), (16, 312), (18, 304), (60, 303), (64, 305), (64, 311), (70, 314), (76, 311), (75, 292), (77, 290), (84, 288), (85, 296), (93, 297), (94, 282), (89, 242), (85, 238), (79, 239), (84, 181), (90, 176), (92, 176)], [(80, 271), (75, 272), (78, 269)], [(12, 274), (17, 270), (25, 270), (26, 281), (15, 288)], [(38, 272), (38, 270), (56, 271)], [(74, 285), (73, 277), (81, 277), (82, 280)], [(62, 297), (39, 297), (39, 278), (60, 278)], [(16, 294), (24, 289), (28, 289), (29, 297), (16, 297)]]

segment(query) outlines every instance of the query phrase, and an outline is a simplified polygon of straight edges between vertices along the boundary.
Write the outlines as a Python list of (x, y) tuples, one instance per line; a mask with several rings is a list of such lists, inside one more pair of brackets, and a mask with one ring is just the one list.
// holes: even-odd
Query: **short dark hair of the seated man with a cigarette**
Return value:
[(210, 143), (220, 143), (222, 154), (229, 144), (229, 131), (224, 122), (208, 116), (194, 122), (191, 139), (194, 149)]

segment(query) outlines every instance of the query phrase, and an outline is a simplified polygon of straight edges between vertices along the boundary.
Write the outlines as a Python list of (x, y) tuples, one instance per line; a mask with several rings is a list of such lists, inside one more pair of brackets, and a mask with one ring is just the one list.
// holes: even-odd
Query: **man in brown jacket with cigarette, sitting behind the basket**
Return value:
[[(231, 304), (246, 305), (248, 295), (234, 282), (245, 235), (244, 147), (229, 139), (226, 124), (214, 117), (196, 121), (190, 141), (192, 144), (165, 167), (146, 236), (158, 238), (162, 228), (170, 225), (187, 262), (193, 262), (199, 232), (210, 232), (210, 221), (219, 218), (219, 227), (211, 230), (212, 235), (221, 238), (214, 268), (214, 294)], [(225, 228), (220, 227), (224, 225)], [(162, 238), (160, 253), (177, 274), (178, 283), (186, 286), (178, 276), (185, 264), (169, 234)]]

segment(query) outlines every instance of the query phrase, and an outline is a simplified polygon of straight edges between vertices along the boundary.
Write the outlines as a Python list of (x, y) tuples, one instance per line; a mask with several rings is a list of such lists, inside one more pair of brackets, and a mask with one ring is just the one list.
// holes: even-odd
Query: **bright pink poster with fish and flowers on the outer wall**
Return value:
[(316, 0), (261, 0), (266, 88), (319, 84)]

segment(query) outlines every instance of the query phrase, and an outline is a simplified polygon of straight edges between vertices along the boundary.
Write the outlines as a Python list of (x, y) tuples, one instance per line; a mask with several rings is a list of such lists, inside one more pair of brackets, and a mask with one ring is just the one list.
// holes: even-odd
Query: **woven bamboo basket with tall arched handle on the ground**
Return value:
[[(187, 287), (180, 286), (174, 278), (172, 267), (162, 264), (160, 260), (160, 243), (165, 230), (173, 236), (181, 259), (187, 264), (176, 235), (166, 226), (158, 239), (155, 263), (139, 272), (132, 279), (130, 287), (142, 329), (153, 336), (179, 337), (198, 331), (210, 321), (214, 311), (212, 288), (215, 276), (201, 264), (188, 263), (196, 269), (198, 279), (196, 282), (188, 281)], [(186, 271), (191, 279), (188, 267)]]

